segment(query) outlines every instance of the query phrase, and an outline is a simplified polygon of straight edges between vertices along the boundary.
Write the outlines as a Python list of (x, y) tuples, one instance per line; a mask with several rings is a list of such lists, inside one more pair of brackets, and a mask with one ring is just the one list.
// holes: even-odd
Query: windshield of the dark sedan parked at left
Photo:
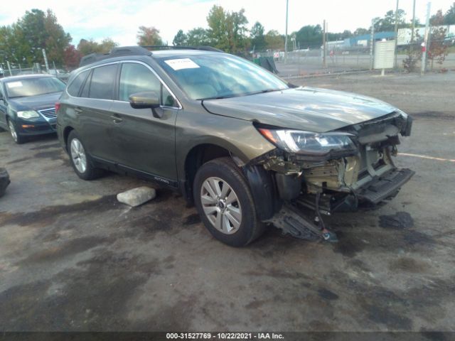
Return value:
[(65, 83), (54, 77), (33, 77), (5, 83), (9, 98), (50, 94), (65, 90)]

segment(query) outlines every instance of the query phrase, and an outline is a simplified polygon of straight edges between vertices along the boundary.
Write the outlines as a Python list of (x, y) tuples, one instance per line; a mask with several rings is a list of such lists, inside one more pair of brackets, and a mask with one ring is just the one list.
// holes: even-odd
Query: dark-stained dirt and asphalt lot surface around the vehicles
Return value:
[(0, 330), (455, 330), (455, 72), (292, 80), (368, 94), (414, 117), (389, 205), (338, 214), (338, 244), (271, 228), (217, 242), (166, 190), (130, 209), (119, 175), (77, 178), (55, 136), (0, 133)]

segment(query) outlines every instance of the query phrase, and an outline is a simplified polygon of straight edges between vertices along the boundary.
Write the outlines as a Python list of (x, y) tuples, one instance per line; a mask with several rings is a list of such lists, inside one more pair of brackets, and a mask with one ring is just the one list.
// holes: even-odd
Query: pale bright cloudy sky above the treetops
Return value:
[[(416, 16), (422, 23), (427, 2), (416, 0)], [(433, 0), (431, 13), (438, 9), (445, 13), (452, 2)], [(2, 6), (0, 26), (14, 23), (25, 11), (51, 9), (75, 45), (81, 38), (101, 41), (108, 37), (120, 45), (136, 45), (139, 26), (155, 26), (164, 41), (171, 45), (179, 29), (206, 28), (208, 11), (215, 4), (229, 11), (245, 9), (249, 28), (259, 21), (266, 32), (285, 32), (286, 0), (16, 0)], [(322, 26), (324, 19), (330, 32), (368, 28), (372, 18), (395, 10), (396, 4), (395, 0), (289, 0), (288, 32), (298, 31), (305, 25), (319, 23)], [(400, 9), (406, 11), (410, 20), (412, 0), (400, 0)]]

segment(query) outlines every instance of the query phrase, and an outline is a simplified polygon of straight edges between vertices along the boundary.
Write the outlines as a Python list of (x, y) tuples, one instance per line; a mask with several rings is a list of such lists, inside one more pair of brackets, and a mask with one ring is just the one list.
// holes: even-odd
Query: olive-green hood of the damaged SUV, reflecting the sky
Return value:
[(371, 97), (315, 87), (207, 99), (203, 101), (203, 106), (213, 114), (317, 133), (340, 129), (398, 110)]

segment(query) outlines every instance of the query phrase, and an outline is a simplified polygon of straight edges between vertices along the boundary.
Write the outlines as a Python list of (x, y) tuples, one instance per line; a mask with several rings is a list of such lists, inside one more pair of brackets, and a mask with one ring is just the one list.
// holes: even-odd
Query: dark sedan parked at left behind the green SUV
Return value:
[(50, 75), (24, 75), (0, 80), (0, 128), (16, 144), (27, 136), (55, 133), (55, 102), (65, 83)]

